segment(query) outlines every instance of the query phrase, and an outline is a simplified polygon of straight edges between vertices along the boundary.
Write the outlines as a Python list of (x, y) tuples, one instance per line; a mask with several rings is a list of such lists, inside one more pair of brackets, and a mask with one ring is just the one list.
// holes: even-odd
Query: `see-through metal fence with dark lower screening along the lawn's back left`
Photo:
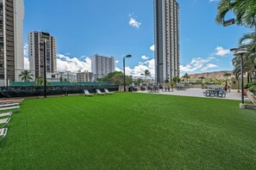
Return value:
[[(86, 74), (84, 74), (86, 76)], [(95, 93), (96, 88), (109, 88), (117, 91), (118, 85), (109, 82), (92, 82), (88, 77), (78, 80), (77, 73), (71, 71), (47, 73), (47, 95), (83, 94), (84, 89)], [(91, 82), (90, 82), (91, 81)], [(44, 78), (34, 70), (1, 70), (0, 69), (0, 98), (28, 97), (44, 95)]]

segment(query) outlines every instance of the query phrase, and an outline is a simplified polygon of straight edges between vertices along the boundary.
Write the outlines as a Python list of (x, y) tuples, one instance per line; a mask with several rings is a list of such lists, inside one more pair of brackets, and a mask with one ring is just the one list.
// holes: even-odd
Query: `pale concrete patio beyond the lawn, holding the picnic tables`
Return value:
[[(187, 88), (186, 90), (176, 90), (176, 89), (174, 89), (173, 92), (165, 92), (165, 91), (160, 90), (159, 93), (149, 93), (146, 90), (146, 91), (138, 91), (137, 93), (143, 93), (143, 94), (170, 94), (170, 95), (193, 96), (193, 97), (203, 97), (203, 98), (222, 99), (222, 100), (241, 100), (240, 93), (238, 93), (237, 90), (231, 90), (231, 92), (227, 92), (227, 95), (226, 95), (225, 98), (205, 97), (205, 96), (203, 96), (203, 92), (205, 92), (205, 89)], [(245, 96), (245, 100), (249, 100), (247, 98), (247, 96)]]

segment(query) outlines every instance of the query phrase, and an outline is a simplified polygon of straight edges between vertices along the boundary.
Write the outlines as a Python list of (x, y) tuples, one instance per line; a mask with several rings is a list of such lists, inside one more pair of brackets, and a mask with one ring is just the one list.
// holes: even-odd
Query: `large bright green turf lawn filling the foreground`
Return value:
[(0, 169), (254, 169), (256, 112), (159, 94), (24, 100)]

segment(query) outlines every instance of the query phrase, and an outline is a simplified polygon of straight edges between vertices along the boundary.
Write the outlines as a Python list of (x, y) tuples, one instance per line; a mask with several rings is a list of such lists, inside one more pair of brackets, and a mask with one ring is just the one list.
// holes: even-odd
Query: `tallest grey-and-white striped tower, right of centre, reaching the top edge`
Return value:
[(154, 0), (156, 82), (179, 76), (179, 5), (176, 0)]

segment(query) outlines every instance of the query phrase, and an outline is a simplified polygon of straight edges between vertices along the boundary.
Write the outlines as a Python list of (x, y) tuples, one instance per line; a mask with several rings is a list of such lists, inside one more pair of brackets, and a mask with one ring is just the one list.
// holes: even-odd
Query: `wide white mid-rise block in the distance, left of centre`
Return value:
[(94, 74), (95, 80), (103, 76), (107, 76), (110, 72), (116, 70), (116, 62), (114, 57), (103, 57), (94, 55), (91, 57), (91, 71)]

